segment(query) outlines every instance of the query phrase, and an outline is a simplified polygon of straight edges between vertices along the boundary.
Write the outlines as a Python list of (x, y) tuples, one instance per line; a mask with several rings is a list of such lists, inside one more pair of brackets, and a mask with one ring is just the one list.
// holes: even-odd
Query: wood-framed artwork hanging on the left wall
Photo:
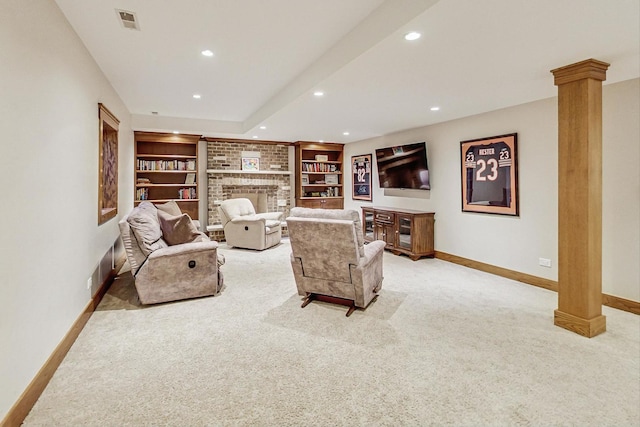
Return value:
[(104, 105), (98, 104), (98, 225), (118, 214), (118, 127), (120, 121)]

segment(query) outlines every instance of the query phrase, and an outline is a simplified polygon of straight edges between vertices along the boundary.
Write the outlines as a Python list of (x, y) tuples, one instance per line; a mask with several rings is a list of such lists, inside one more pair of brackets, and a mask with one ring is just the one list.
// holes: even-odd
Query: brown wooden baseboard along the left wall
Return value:
[(60, 366), (60, 363), (62, 363), (62, 360), (69, 352), (69, 349), (80, 335), (80, 332), (82, 332), (82, 329), (91, 318), (96, 307), (100, 304), (102, 297), (104, 297), (109, 286), (111, 286), (113, 279), (124, 265), (124, 262), (124, 256), (117, 260), (115, 268), (111, 270), (107, 278), (100, 285), (100, 288), (96, 291), (95, 295), (87, 303), (84, 310), (82, 310), (80, 316), (78, 316), (76, 321), (73, 322), (69, 332), (67, 332), (64, 338), (62, 338), (62, 341), (60, 341), (60, 344), (58, 344), (55, 350), (53, 350), (53, 353), (51, 353), (51, 356), (49, 356), (47, 361), (44, 362), (42, 368), (40, 368), (35, 377), (33, 377), (33, 380), (31, 380), (27, 388), (22, 392), (16, 403), (11, 407), (11, 409), (9, 409), (9, 412), (7, 412), (4, 419), (0, 421), (0, 427), (18, 427), (22, 424), (27, 415), (29, 415), (33, 405), (35, 405), (40, 398), (40, 395), (47, 387), (47, 384), (49, 384), (49, 381), (56, 372), (56, 369), (58, 369), (58, 366)]

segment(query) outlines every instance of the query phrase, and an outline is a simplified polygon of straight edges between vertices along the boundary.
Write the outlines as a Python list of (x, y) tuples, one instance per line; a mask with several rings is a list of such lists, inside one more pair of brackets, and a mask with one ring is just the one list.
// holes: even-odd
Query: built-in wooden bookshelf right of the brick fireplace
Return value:
[(337, 143), (295, 143), (296, 206), (343, 208), (343, 148)]

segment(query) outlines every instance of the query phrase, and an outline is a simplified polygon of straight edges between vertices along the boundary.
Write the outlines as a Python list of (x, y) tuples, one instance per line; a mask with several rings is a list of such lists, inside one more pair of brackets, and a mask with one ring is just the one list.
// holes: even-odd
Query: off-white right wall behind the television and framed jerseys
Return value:
[[(603, 90), (603, 292), (640, 301), (640, 80)], [(549, 84), (553, 84), (549, 81)], [(373, 202), (351, 199), (345, 207), (391, 206), (436, 212), (436, 250), (557, 280), (557, 98), (345, 146), (345, 159), (375, 148), (427, 141), (431, 191), (381, 190), (373, 171)], [(520, 216), (463, 213), (460, 141), (518, 133)], [(538, 265), (540, 257), (552, 268)]]

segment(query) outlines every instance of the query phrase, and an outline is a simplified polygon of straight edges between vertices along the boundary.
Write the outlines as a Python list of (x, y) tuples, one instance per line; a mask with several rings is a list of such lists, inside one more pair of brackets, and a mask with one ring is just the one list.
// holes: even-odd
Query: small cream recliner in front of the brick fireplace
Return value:
[(282, 212), (257, 214), (249, 199), (227, 199), (218, 207), (229, 246), (264, 250), (280, 243)]

